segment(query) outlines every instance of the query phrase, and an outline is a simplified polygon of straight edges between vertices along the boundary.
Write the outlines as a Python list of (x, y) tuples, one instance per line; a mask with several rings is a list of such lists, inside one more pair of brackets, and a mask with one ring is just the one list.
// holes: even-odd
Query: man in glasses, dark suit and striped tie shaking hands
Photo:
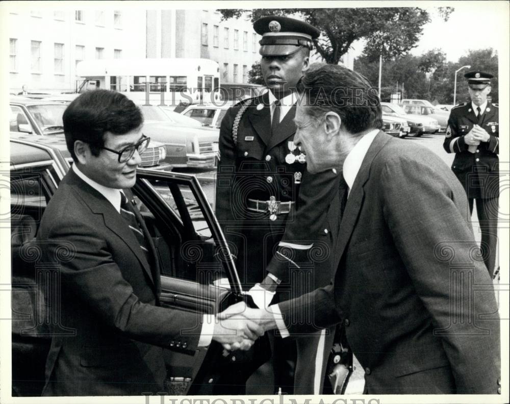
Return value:
[[(139, 108), (120, 93), (94, 90), (69, 105), (63, 122), (74, 164), (38, 233), (44, 261), (60, 280), (58, 299), (50, 302), (60, 321), (43, 395), (165, 392), (164, 347), (181, 347), (190, 357), (211, 338), (248, 348), (246, 339), (261, 335), (253, 323), (160, 307), (154, 243), (129, 197), (149, 141)], [(58, 334), (62, 327), (73, 335)], [(183, 329), (197, 333), (182, 335)]]

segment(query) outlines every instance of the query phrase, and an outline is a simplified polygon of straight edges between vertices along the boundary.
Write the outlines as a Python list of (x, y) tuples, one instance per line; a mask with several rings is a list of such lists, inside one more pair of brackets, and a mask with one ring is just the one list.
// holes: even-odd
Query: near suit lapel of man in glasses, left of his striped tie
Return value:
[(112, 204), (110, 204), (110, 202), (103, 195), (101, 195), (98, 191), (83, 181), (77, 174), (74, 173), (73, 170), (69, 170), (69, 175), (71, 185), (76, 185), (73, 188), (75, 191), (77, 191), (78, 195), (81, 197), (84, 203), (93, 213), (103, 216), (105, 226), (117, 236), (119, 236), (119, 238), (127, 244), (133, 254), (138, 258), (138, 261), (140, 262), (151, 283), (155, 285), (149, 263), (147, 262), (147, 259), (145, 258), (145, 255), (140, 248), (138, 240), (126, 225), (126, 222), (122, 216), (120, 216)]

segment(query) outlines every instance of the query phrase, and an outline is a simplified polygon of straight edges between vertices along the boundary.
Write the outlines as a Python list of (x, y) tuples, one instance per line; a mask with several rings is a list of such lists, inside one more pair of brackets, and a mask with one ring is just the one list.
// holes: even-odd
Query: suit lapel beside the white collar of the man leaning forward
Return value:
[(349, 197), (347, 199), (347, 204), (345, 205), (345, 210), (342, 215), (342, 221), (340, 222), (339, 230), (338, 230), (338, 243), (337, 243), (337, 266), (344, 254), (345, 246), (349, 242), (352, 231), (354, 230), (354, 226), (358, 221), (358, 217), (360, 215), (361, 207), (363, 205), (363, 199), (365, 198), (365, 190), (364, 186), (370, 177), (370, 167), (372, 162), (380, 152), (381, 148), (391, 139), (391, 137), (384, 132), (379, 132), (370, 147), (368, 148), (367, 154), (363, 159), (363, 163), (360, 167), (360, 171), (358, 175), (356, 175), (356, 179), (354, 180), (354, 184), (352, 185), (352, 189), (349, 192)]

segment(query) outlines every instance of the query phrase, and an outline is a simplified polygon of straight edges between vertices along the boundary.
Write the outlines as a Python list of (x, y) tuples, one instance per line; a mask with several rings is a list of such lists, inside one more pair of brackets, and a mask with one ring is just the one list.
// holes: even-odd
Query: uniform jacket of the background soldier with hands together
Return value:
[(499, 196), (499, 108), (488, 103), (481, 127), (490, 135), (488, 142), (481, 142), (476, 153), (468, 151), (464, 136), (478, 122), (471, 102), (455, 107), (448, 119), (443, 143), (447, 153), (455, 153), (451, 169), (461, 181), (469, 198), (494, 198)]

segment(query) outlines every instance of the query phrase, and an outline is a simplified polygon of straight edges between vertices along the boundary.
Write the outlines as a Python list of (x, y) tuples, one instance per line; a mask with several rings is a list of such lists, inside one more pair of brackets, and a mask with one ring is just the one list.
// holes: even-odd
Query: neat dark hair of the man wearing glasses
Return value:
[(105, 133), (123, 135), (140, 127), (140, 109), (125, 95), (111, 90), (87, 91), (69, 104), (62, 117), (67, 149), (74, 161), (74, 142), (90, 145), (92, 155), (98, 156), (105, 145)]

